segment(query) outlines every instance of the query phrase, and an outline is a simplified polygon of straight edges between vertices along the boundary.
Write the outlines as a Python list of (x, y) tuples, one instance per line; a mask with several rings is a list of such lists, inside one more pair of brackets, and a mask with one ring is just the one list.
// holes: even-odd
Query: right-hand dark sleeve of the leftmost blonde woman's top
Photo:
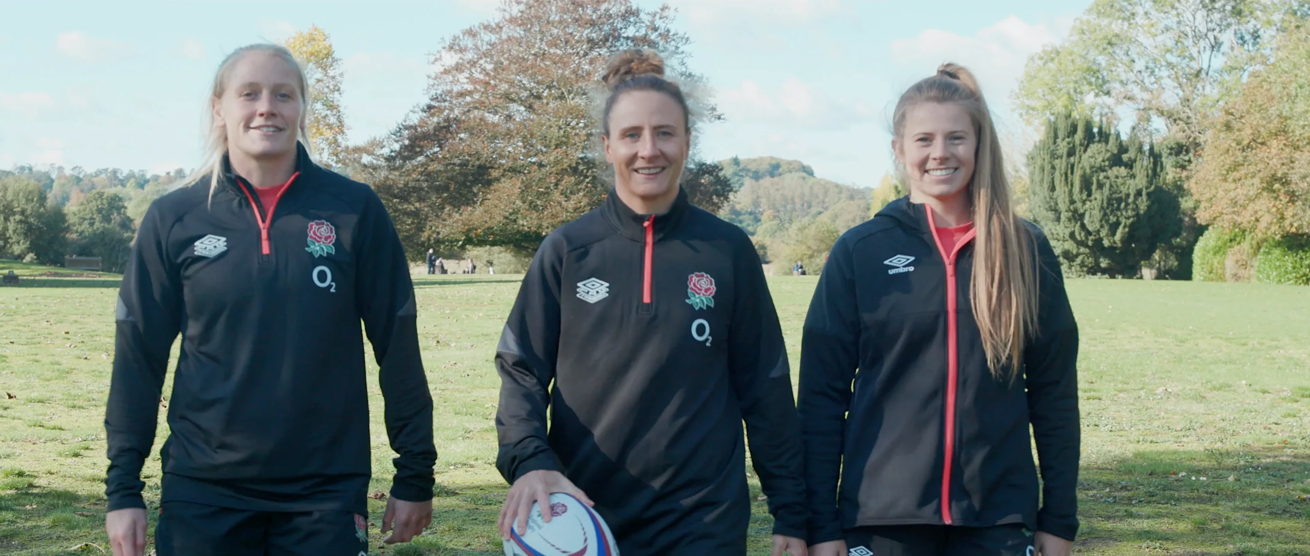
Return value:
[(400, 235), (376, 195), (360, 215), (356, 243), (355, 304), (380, 367), (386, 437), (398, 454), (392, 496), (432, 500), (432, 395), (418, 346), (414, 285)]

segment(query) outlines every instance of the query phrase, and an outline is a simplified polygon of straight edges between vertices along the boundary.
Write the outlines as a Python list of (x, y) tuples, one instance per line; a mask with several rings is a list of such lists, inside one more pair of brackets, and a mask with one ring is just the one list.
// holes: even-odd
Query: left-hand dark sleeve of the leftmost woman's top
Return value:
[(181, 329), (182, 286), (159, 203), (141, 220), (118, 290), (114, 370), (105, 410), (109, 510), (145, 507), (141, 466), (155, 443), (169, 350)]

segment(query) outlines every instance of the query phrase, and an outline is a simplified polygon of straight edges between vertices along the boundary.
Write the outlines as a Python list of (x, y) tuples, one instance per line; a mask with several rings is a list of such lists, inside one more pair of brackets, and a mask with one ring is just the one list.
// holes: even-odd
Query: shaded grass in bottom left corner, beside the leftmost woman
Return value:
[(0, 553), (100, 553), (94, 547), (69, 552), (83, 543), (93, 543), (109, 552), (103, 500), (38, 486), (24, 476), (4, 479), (0, 484)]

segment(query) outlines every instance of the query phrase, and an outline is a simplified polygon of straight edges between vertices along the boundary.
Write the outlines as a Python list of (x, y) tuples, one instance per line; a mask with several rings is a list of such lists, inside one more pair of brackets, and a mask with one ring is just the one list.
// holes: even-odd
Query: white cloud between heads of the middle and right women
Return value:
[(791, 77), (776, 92), (753, 80), (719, 93), (719, 108), (730, 122), (786, 122), (802, 129), (846, 129), (874, 115), (863, 102), (832, 98)]

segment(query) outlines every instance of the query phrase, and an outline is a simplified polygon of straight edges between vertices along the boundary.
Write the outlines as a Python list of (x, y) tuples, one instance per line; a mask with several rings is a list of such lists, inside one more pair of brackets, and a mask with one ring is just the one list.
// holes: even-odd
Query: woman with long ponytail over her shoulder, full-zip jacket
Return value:
[(910, 87), (892, 125), (910, 193), (837, 240), (804, 324), (810, 553), (1065, 556), (1078, 328), (1060, 262), (1014, 214), (967, 70)]

